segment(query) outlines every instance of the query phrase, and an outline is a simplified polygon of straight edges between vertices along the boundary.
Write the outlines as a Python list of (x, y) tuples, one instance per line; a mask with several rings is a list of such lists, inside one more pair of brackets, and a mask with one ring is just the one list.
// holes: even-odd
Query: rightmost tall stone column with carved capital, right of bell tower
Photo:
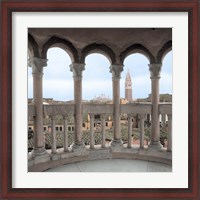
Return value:
[(151, 120), (151, 142), (149, 148), (160, 149), (160, 122), (159, 122), (159, 80), (162, 64), (149, 64), (151, 72), (151, 102), (152, 102), (152, 120)]

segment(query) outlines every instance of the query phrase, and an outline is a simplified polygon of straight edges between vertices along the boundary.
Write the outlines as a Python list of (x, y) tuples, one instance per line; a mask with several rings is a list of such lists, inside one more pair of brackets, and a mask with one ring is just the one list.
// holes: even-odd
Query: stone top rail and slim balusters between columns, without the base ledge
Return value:
[[(63, 147), (64, 152), (69, 152), (68, 146), (68, 118), (67, 116), (74, 116), (74, 104), (53, 104), (53, 105), (43, 105), (43, 116), (49, 116), (51, 119), (51, 134), (52, 134), (52, 154), (57, 153), (56, 149), (56, 131), (55, 131), (55, 116), (60, 115), (63, 117)], [(139, 118), (139, 130), (140, 130), (140, 148), (144, 148), (144, 127), (147, 114), (151, 114), (152, 105), (150, 103), (135, 103), (135, 104), (122, 104), (120, 105), (120, 113), (127, 114), (128, 121), (128, 141), (127, 147), (132, 147), (132, 118), (133, 115), (138, 115)], [(94, 116), (99, 115), (101, 121), (101, 148), (106, 147), (106, 132), (105, 132), (105, 118), (106, 116), (113, 114), (113, 105), (112, 104), (83, 104), (82, 112), (87, 113), (90, 118), (90, 149), (95, 149), (95, 137), (94, 137)], [(159, 104), (159, 113), (161, 115), (168, 116), (168, 142), (167, 150), (172, 151), (172, 104), (171, 103), (160, 103)], [(28, 106), (28, 116), (30, 119), (33, 119), (35, 116), (35, 107), (34, 105)], [(83, 141), (84, 142), (84, 141)]]

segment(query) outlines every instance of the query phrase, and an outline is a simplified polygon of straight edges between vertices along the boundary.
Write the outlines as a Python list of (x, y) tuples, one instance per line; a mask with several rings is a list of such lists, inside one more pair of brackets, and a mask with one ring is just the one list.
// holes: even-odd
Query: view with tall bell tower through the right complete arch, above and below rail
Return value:
[[(138, 50), (139, 51), (139, 50)], [(137, 49), (134, 50), (137, 52)], [(141, 53), (133, 53), (124, 60), (124, 71), (121, 78), (121, 104), (148, 103), (151, 93), (149, 60)], [(150, 123), (150, 120), (148, 121)], [(145, 120), (145, 126), (147, 120)], [(140, 115), (138, 113), (121, 114), (122, 139), (129, 147), (142, 145), (150, 141), (149, 130), (144, 130), (144, 141), (141, 141)]]

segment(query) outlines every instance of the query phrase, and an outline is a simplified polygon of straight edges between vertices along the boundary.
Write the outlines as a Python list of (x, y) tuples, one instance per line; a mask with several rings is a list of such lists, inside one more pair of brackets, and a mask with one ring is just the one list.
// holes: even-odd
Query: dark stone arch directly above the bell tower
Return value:
[(132, 54), (132, 53), (141, 53), (145, 57), (147, 57), (147, 59), (149, 60), (150, 63), (154, 63), (155, 62), (154, 56), (142, 44), (133, 44), (133, 45), (129, 46), (128, 48), (126, 48), (123, 52), (121, 52), (121, 54), (120, 54), (120, 62), (124, 63), (125, 58), (127, 56), (129, 56), (130, 54)]

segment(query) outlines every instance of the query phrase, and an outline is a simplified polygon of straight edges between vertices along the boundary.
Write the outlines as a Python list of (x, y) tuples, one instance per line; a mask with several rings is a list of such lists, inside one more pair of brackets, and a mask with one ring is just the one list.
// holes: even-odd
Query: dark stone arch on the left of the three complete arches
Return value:
[(51, 37), (42, 47), (42, 58), (47, 58), (47, 51), (51, 47), (59, 47), (66, 51), (72, 62), (78, 62), (78, 51), (73, 44), (65, 39), (56, 36)]

